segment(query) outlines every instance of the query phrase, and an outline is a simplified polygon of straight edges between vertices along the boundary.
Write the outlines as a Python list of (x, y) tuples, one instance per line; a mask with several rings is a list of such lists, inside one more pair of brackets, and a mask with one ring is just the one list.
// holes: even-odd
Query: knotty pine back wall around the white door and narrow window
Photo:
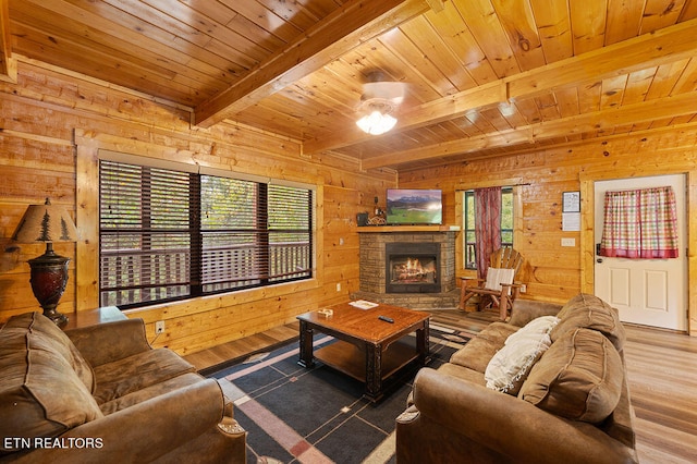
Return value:
[[(597, 180), (684, 173), (688, 185), (688, 274), (690, 334), (697, 334), (697, 124), (644, 130), (578, 141), (504, 158), (401, 172), (400, 187), (442, 188), (449, 223), (457, 223), (456, 192), (517, 183), (515, 247), (527, 259), (526, 298), (564, 302), (579, 291), (592, 293), (592, 183)], [(582, 192), (582, 231), (562, 231), (562, 193)], [(576, 246), (562, 247), (562, 239)], [(458, 262), (462, 262), (458, 259)], [(458, 276), (467, 274), (460, 269)]]

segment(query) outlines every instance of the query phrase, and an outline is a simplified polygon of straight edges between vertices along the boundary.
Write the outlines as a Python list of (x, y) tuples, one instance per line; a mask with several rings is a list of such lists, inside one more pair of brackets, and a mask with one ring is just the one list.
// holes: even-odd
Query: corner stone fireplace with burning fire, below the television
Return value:
[(360, 291), (353, 300), (411, 308), (452, 308), (455, 236), (450, 227), (365, 227), (360, 237)]

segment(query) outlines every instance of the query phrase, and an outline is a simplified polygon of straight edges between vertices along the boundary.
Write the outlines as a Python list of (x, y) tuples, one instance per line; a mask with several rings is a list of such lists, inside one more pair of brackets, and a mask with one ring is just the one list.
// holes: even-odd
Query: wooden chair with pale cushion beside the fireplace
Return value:
[(460, 309), (465, 309), (467, 301), (479, 296), (479, 310), (498, 306), (501, 320), (505, 320), (513, 301), (521, 293), (518, 271), (523, 267), (523, 256), (510, 246), (491, 254), (486, 279), (463, 277), (460, 290)]

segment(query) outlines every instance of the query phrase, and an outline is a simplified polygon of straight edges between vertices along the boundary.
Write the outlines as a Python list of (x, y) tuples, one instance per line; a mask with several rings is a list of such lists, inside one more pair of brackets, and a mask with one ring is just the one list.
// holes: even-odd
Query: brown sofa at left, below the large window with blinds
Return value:
[(0, 329), (0, 463), (244, 463), (246, 432), (213, 379), (140, 319), (63, 332), (40, 313)]

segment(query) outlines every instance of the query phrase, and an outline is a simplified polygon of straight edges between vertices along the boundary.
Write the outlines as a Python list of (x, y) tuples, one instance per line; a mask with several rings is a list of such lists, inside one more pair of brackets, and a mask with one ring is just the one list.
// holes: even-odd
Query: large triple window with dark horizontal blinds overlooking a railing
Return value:
[(100, 161), (102, 306), (311, 278), (313, 191)]

